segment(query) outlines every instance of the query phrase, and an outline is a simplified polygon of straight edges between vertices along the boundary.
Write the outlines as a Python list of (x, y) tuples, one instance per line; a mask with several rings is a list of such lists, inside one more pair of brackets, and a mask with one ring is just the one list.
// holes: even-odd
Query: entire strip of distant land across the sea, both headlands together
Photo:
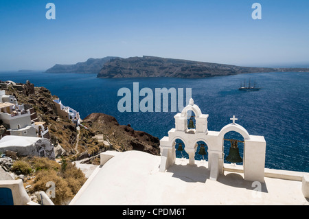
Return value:
[(211, 62), (196, 62), (153, 56), (119, 58), (89, 58), (75, 65), (54, 65), (47, 73), (97, 73), (98, 78), (207, 78), (229, 76), (239, 73), (306, 71), (306, 68), (240, 67)]

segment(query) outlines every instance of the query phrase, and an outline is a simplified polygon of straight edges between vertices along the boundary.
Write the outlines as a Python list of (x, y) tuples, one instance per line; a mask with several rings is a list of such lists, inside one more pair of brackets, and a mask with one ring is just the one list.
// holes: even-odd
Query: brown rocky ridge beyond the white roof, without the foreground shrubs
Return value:
[[(25, 86), (24, 89), (14, 89), (10, 86), (6, 93), (14, 95), (19, 104), (27, 108), (34, 107), (39, 122), (45, 122), (49, 128), (49, 136), (55, 146), (60, 145), (65, 150), (65, 157), (73, 160), (95, 156), (105, 150), (141, 150), (159, 155), (159, 139), (146, 132), (133, 130), (129, 126), (120, 126), (114, 117), (101, 113), (93, 113), (84, 119), (89, 129), (76, 130), (75, 124), (68, 119), (61, 119), (56, 114), (53, 100), (57, 99), (45, 87)], [(30, 90), (28, 87), (31, 87)], [(76, 108), (78, 110), (78, 108)], [(5, 132), (5, 127), (3, 132)], [(112, 146), (95, 139), (95, 135), (104, 135)]]

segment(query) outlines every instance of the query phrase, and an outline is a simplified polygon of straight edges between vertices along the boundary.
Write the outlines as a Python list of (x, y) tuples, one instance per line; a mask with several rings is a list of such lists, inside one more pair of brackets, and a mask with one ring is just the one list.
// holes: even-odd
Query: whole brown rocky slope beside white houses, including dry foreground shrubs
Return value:
[[(83, 122), (90, 128), (78, 130), (71, 121), (58, 117), (53, 102), (57, 97), (45, 87), (34, 87), (27, 81), (18, 89), (9, 86), (5, 93), (14, 95), (19, 104), (25, 104), (25, 108), (35, 108), (38, 120), (49, 128), (51, 141), (63, 152), (58, 154), (58, 158), (62, 155), (61, 164), (39, 157), (19, 157), (18, 161), (10, 157), (0, 158), (0, 180), (21, 179), (27, 194), (36, 203), (41, 201), (38, 192), (46, 191), (50, 181), (56, 184), (55, 198), (51, 198), (55, 205), (67, 205), (77, 194), (87, 178), (71, 161), (90, 157), (87, 163), (100, 165), (98, 154), (105, 150), (140, 150), (159, 155), (157, 137), (133, 130), (130, 126), (121, 126), (110, 115), (92, 113)], [(0, 125), (0, 132), (6, 132), (6, 128)], [(111, 145), (106, 146), (95, 138), (102, 134)]]

